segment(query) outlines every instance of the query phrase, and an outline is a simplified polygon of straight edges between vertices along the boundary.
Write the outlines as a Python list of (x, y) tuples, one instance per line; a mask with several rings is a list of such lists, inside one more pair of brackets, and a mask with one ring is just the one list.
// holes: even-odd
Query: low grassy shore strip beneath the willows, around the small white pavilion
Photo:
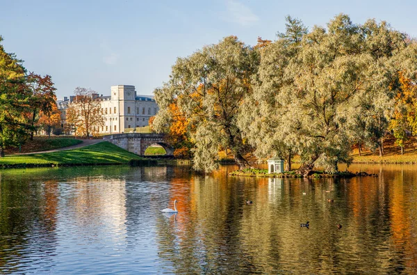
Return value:
[[(243, 169), (229, 173), (231, 176), (241, 177), (258, 177), (258, 178), (303, 178), (302, 175), (298, 175), (295, 171), (288, 171), (284, 173), (271, 173), (268, 174), (266, 169)], [(357, 176), (376, 176), (374, 174), (368, 174), (365, 172), (361, 173), (350, 173), (350, 172), (337, 172), (337, 173), (324, 173), (323, 171), (313, 171), (311, 175), (306, 178), (353, 178)]]

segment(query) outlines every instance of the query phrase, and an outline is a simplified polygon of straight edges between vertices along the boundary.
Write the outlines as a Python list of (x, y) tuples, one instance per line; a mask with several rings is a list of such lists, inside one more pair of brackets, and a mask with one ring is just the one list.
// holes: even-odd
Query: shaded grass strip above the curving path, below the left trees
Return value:
[[(20, 152), (39, 152), (74, 146), (82, 143), (79, 139), (35, 137), (33, 141), (26, 141), (20, 148)], [(6, 148), (6, 155), (13, 155), (19, 152), (19, 148)]]

